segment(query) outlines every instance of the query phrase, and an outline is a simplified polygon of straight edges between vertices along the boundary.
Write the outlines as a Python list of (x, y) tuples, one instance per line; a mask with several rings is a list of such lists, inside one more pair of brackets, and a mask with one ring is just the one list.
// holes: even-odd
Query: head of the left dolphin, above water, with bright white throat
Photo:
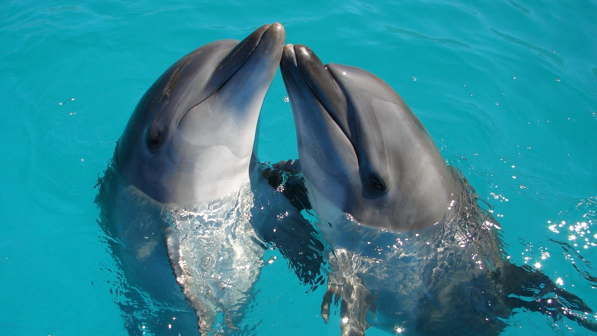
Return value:
[(282, 25), (191, 51), (147, 90), (114, 161), (162, 203), (201, 203), (248, 179), (261, 103), (282, 55)]

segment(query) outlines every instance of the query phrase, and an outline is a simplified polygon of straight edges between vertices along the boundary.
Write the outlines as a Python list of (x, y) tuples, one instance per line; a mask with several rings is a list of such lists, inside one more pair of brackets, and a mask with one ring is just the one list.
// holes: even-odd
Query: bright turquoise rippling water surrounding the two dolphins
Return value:
[[(180, 56), (275, 21), (324, 63), (392, 85), (488, 201), (511, 259), (540, 262), (597, 308), (597, 3), (527, 2), (5, 3), (0, 334), (127, 334), (93, 203), (114, 142)], [(286, 95), (278, 74), (261, 112), (261, 160), (297, 157)], [(339, 333), (337, 315), (328, 325), (319, 316), (324, 288), (307, 292), (284, 259), (257, 289), (254, 334)], [(589, 333), (517, 311), (504, 334)]]

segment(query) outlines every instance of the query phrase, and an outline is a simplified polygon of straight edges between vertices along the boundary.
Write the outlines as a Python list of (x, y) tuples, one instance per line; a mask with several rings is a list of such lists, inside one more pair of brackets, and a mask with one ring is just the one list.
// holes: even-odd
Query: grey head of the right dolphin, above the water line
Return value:
[(436, 224), (451, 211), (456, 177), (389, 85), (363, 69), (324, 65), (304, 45), (284, 47), (281, 70), (301, 170), (322, 219), (348, 213), (399, 231)]

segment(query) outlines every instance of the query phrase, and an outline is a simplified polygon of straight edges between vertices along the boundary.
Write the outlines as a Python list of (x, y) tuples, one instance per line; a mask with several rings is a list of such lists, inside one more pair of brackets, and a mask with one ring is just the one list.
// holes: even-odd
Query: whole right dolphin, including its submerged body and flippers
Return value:
[(342, 335), (364, 335), (368, 315), (394, 334), (497, 335), (514, 308), (597, 331), (580, 298), (504, 258), (497, 222), (389, 85), (304, 45), (281, 70), (299, 161), (277, 167), (328, 246), (325, 322), (341, 298)]

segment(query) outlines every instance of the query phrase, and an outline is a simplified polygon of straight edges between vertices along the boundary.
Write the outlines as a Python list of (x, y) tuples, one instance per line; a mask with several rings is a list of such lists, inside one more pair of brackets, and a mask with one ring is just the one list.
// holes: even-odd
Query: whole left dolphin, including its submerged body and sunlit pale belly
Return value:
[(96, 198), (130, 334), (238, 329), (263, 264), (250, 175), (284, 38), (274, 23), (191, 51), (131, 115)]

